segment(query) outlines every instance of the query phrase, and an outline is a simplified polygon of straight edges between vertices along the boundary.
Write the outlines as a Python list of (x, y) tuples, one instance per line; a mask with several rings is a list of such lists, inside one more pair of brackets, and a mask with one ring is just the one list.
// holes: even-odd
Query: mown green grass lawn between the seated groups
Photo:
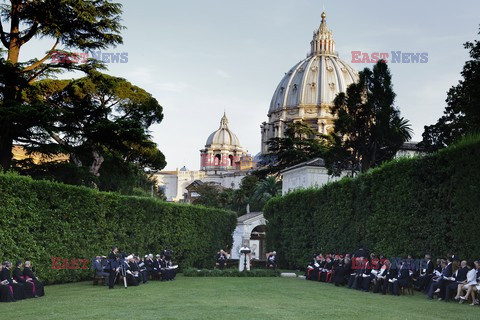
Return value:
[(382, 296), (296, 278), (187, 278), (108, 290), (47, 286), (46, 296), (0, 303), (1, 319), (479, 319), (480, 308)]

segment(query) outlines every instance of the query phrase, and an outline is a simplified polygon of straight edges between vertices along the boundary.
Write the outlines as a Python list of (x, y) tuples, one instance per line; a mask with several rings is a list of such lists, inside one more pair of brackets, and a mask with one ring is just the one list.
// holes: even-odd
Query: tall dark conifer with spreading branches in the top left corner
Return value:
[[(13, 142), (40, 125), (44, 110), (27, 105), (22, 91), (52, 72), (89, 70), (98, 63), (52, 63), (58, 47), (66, 50), (105, 49), (122, 43), (121, 5), (109, 0), (4, 0), (0, 5), (0, 43), (7, 58), (0, 60), (0, 166), (10, 167)], [(9, 24), (9, 27), (4, 27)], [(19, 61), (22, 47), (35, 38), (52, 40), (41, 57)], [(0, 47), (2, 48), (2, 47)], [(68, 55), (71, 52), (66, 51)]]

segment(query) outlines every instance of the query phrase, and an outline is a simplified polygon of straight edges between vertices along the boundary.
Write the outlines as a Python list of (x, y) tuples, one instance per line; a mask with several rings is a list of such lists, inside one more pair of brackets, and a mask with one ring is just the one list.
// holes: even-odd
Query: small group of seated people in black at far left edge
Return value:
[(31, 269), (31, 262), (17, 260), (15, 268), (10, 261), (0, 264), (0, 301), (14, 302), (45, 295), (43, 283)]

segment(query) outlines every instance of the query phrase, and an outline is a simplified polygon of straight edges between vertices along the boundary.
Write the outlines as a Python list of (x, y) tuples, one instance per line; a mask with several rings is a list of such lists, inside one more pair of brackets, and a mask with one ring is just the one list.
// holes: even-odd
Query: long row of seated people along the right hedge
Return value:
[[(389, 261), (364, 255), (316, 255), (307, 266), (307, 280), (346, 285), (351, 289), (374, 293), (390, 292), (399, 295), (401, 289), (424, 290), (428, 297), (438, 295), (439, 300), (455, 299), (463, 302), (469, 298), (472, 304), (480, 289), (480, 262), (460, 261), (456, 256), (439, 259), (435, 267), (430, 255), (420, 261), (411, 256)], [(412, 291), (413, 292), (413, 291)], [(456, 294), (456, 296), (454, 296)]]

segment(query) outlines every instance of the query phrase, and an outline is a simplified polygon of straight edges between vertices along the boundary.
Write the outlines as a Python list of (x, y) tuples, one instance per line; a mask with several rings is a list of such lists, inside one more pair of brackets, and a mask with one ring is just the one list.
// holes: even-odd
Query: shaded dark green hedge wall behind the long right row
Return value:
[(480, 257), (480, 137), (270, 200), (267, 246), (285, 267), (360, 245), (391, 256)]

